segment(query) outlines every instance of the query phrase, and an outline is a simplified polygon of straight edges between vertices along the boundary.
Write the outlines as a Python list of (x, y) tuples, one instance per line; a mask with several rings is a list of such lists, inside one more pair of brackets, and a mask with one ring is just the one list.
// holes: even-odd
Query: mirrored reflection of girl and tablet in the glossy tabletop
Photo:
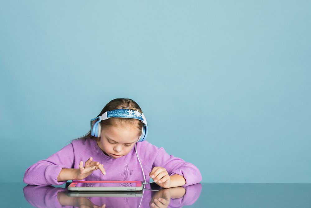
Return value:
[[(150, 189), (150, 186), (146, 188)], [(200, 183), (159, 191), (136, 192), (81, 192), (54, 186), (24, 187), (25, 199), (34, 207), (183, 207), (191, 205), (200, 196)]]

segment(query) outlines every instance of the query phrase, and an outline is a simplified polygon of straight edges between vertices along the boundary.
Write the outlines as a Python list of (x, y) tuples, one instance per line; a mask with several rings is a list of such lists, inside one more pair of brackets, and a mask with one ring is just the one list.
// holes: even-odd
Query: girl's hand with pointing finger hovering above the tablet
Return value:
[(106, 171), (104, 169), (104, 165), (99, 162), (92, 161), (93, 157), (90, 157), (85, 162), (85, 167), (83, 167), (83, 161), (80, 161), (79, 169), (76, 172), (76, 180), (82, 180), (89, 176), (93, 171), (100, 169), (100, 171), (106, 175)]

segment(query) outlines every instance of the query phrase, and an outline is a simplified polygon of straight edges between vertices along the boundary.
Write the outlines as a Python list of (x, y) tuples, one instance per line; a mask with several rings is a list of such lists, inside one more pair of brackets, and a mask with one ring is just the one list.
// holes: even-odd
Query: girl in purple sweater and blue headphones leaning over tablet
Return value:
[(86, 136), (72, 140), (47, 159), (30, 166), (24, 182), (30, 185), (61, 185), (67, 180), (149, 182), (151, 177), (159, 186), (170, 188), (202, 180), (195, 165), (147, 142), (147, 133), (146, 117), (139, 105), (132, 99), (113, 99), (97, 118), (91, 119), (91, 130)]

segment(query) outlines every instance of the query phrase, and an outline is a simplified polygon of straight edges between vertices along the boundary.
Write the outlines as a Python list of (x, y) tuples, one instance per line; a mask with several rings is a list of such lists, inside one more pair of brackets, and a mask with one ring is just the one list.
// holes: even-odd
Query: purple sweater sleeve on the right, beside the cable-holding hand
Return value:
[(183, 176), (186, 179), (186, 184), (183, 186), (189, 186), (202, 181), (201, 172), (195, 165), (185, 162), (179, 157), (169, 155), (164, 148), (159, 148), (156, 152), (152, 168), (157, 166), (164, 167), (170, 176), (174, 174)]

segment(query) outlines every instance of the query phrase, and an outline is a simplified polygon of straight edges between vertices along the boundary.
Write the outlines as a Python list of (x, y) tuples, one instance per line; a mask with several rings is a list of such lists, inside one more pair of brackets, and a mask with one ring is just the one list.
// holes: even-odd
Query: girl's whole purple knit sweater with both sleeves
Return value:
[[(138, 157), (142, 163), (146, 182), (149, 182), (149, 172), (153, 167), (164, 167), (169, 175), (179, 174), (186, 179), (189, 186), (199, 183), (202, 175), (192, 163), (174, 157), (165, 152), (164, 148), (143, 141), (137, 143)], [(40, 160), (30, 166), (24, 175), (24, 182), (30, 185), (61, 185), (57, 177), (62, 168), (79, 168), (80, 161), (85, 162), (90, 157), (93, 161), (104, 164), (106, 175), (96, 170), (82, 181), (144, 181), (142, 168), (138, 162), (135, 146), (125, 156), (113, 158), (104, 154), (95, 139), (78, 139), (45, 160)]]

